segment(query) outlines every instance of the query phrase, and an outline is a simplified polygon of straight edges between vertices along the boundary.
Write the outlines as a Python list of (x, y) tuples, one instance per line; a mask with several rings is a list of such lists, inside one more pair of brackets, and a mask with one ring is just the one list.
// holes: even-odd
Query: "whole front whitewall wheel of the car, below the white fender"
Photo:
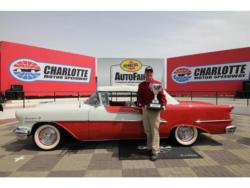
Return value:
[(62, 135), (56, 126), (44, 124), (35, 130), (33, 140), (38, 148), (42, 150), (53, 150), (62, 142)]

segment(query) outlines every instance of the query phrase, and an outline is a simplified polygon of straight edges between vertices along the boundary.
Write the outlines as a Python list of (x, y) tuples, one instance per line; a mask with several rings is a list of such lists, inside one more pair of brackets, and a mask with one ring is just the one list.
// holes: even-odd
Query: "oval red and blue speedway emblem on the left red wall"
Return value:
[(30, 59), (18, 59), (11, 64), (10, 71), (18, 80), (34, 81), (41, 75), (41, 67)]

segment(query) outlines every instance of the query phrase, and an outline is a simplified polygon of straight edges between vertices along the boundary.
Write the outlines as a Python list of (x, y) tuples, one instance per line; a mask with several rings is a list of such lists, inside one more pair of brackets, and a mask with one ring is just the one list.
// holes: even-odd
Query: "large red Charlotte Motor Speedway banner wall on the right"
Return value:
[(166, 64), (168, 91), (233, 94), (250, 79), (250, 48), (172, 57)]

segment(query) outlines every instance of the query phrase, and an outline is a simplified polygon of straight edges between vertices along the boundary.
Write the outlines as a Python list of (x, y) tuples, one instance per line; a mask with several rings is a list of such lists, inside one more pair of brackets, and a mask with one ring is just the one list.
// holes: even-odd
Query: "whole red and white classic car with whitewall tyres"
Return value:
[[(105, 86), (85, 102), (43, 104), (16, 111), (19, 139), (32, 137), (42, 150), (58, 147), (64, 135), (79, 141), (146, 138), (142, 111), (136, 106), (137, 86)], [(164, 91), (165, 92), (165, 91)], [(231, 105), (178, 101), (165, 92), (167, 106), (161, 111), (160, 136), (191, 146), (199, 133), (233, 133)]]

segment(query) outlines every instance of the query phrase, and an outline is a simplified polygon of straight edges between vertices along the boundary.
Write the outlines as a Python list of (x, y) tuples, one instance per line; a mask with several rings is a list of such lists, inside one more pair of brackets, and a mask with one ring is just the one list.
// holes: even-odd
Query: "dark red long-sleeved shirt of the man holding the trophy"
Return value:
[[(144, 81), (139, 84), (138, 93), (137, 93), (138, 106), (144, 107), (145, 105), (148, 105), (149, 103), (151, 103), (152, 100), (154, 99), (154, 93), (149, 88), (150, 84), (161, 84), (161, 82), (157, 80), (152, 80), (150, 82)], [(167, 100), (163, 93), (163, 89), (161, 89), (161, 91), (158, 93), (157, 98), (163, 106), (167, 104)]]

